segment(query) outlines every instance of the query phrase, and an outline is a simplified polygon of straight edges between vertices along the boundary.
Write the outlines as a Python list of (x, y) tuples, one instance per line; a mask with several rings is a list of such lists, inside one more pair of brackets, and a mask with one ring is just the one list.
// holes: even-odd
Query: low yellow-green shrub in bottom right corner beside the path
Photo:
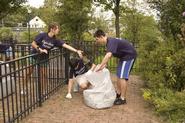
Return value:
[(167, 122), (183, 123), (185, 121), (185, 91), (174, 93), (161, 86), (156, 90), (146, 89), (143, 92), (143, 97), (155, 106), (157, 113), (163, 115)]

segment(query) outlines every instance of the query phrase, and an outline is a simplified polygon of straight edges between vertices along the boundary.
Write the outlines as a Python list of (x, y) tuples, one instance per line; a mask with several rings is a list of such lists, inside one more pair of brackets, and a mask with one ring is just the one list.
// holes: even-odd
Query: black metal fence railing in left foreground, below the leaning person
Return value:
[(0, 122), (19, 122), (48, 99), (68, 78), (68, 53), (50, 52), (49, 59), (27, 55), (0, 64)]

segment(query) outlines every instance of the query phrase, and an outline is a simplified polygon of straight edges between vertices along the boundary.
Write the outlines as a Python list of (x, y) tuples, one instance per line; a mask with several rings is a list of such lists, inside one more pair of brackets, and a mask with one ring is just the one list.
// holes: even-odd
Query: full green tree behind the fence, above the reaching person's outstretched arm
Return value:
[(58, 22), (61, 31), (68, 40), (81, 40), (84, 32), (88, 30), (91, 12), (91, 0), (60, 0), (58, 7)]

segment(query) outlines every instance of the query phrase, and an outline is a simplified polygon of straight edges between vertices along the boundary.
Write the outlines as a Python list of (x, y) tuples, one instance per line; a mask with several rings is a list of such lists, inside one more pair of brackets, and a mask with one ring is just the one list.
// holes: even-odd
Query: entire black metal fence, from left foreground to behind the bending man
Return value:
[[(106, 53), (105, 46), (95, 42), (74, 41), (69, 44), (83, 50), (95, 64), (100, 64)], [(69, 51), (54, 49), (47, 61), (38, 61), (34, 58), (40, 54), (30, 55), (31, 45), (8, 47), (12, 49), (2, 52), (5, 62), (0, 63), (0, 123), (19, 122), (29, 115), (67, 82), (69, 73)], [(112, 58), (108, 63), (112, 73), (116, 71), (117, 62)]]

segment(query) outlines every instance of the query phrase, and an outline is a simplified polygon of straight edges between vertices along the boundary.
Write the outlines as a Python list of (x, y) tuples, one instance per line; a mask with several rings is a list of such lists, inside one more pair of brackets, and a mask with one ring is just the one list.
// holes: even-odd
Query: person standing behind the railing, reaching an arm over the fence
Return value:
[[(38, 34), (31, 44), (33, 48), (32, 53), (33, 54), (39, 53), (39, 55), (37, 57), (33, 57), (33, 59), (41, 63), (40, 64), (41, 78), (45, 79), (47, 76), (47, 73), (45, 73), (44, 71), (44, 66), (47, 66), (47, 63), (48, 63), (47, 61), (49, 58), (49, 51), (53, 49), (54, 47), (64, 47), (70, 51), (76, 52), (79, 56), (82, 56), (81, 50), (77, 50), (73, 48), (72, 46), (66, 44), (63, 40), (57, 39), (56, 35), (58, 35), (58, 33), (59, 33), (59, 25), (57, 23), (51, 23), (48, 26), (48, 32)], [(29, 70), (29, 72), (26, 73), (26, 75), (30, 76), (32, 72), (33, 72), (33, 68), (31, 68), (31, 70)], [(43, 91), (45, 91), (47, 80), (41, 80), (41, 81), (43, 81), (42, 88), (43, 88)], [(24, 92), (21, 92), (21, 93), (24, 93)]]

